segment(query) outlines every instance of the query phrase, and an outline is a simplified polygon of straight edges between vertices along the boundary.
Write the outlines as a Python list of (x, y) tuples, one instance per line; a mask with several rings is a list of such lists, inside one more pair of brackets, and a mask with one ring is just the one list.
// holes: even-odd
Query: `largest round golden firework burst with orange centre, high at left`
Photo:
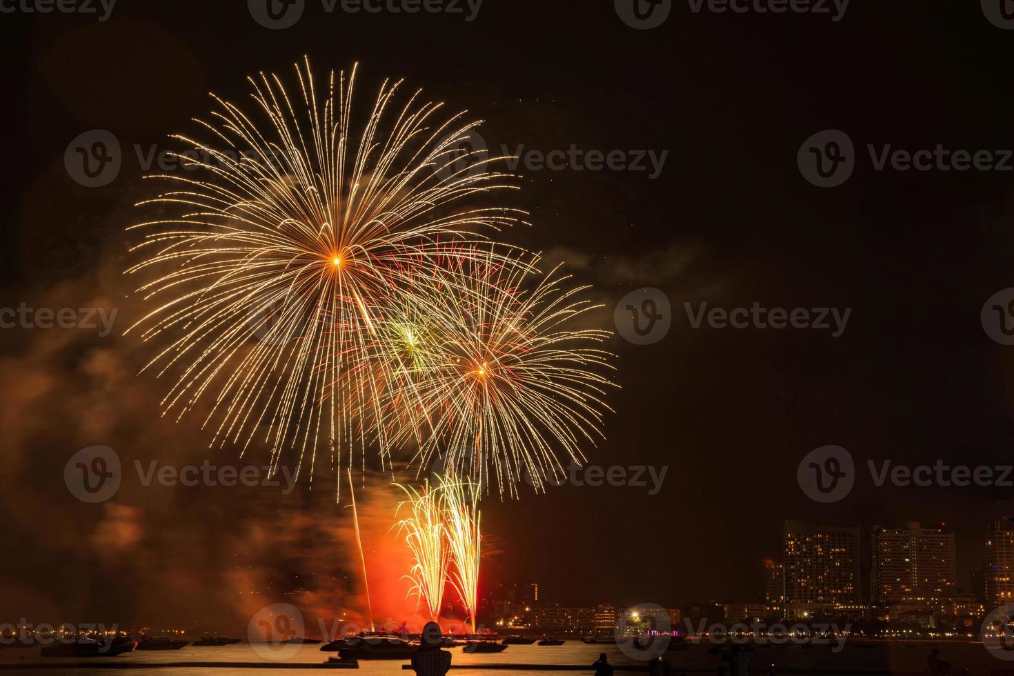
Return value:
[(186, 175), (149, 176), (169, 189), (139, 205), (157, 220), (132, 226), (146, 257), (128, 274), (148, 276), (138, 293), (154, 309), (128, 331), (163, 342), (143, 369), (171, 372), (163, 415), (205, 400), (212, 446), (263, 439), (274, 466), (297, 458), (297, 476), (325, 447), (340, 491), (356, 445), (363, 462), (370, 444), (390, 459), (384, 427), (364, 422), (380, 410), (374, 378), (389, 376), (359, 368), (385, 307), (427, 283), (420, 260), (468, 254), (448, 243), (483, 241), (520, 213), (468, 206), (514, 187), (485, 154), (458, 152), (478, 123), (440, 118), (418, 91), (399, 108), (400, 81), (357, 123), (355, 68), (325, 82), (308, 61), (296, 73), (291, 96), (275, 75), (249, 78), (255, 112), (215, 97), (211, 122), (196, 121), (209, 142), (173, 137), (198, 158), (177, 155)]

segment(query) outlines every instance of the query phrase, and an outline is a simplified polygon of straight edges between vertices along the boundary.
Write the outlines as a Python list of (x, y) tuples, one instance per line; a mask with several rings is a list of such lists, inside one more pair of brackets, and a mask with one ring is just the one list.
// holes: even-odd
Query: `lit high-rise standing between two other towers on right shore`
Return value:
[(919, 597), (950, 598), (957, 586), (954, 533), (909, 523), (904, 528), (874, 526), (871, 599), (877, 604)]

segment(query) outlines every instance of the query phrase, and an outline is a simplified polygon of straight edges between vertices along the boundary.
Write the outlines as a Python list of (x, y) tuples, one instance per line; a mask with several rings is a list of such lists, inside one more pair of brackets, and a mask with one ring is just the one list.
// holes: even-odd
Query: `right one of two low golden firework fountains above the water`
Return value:
[(480, 529), (480, 487), (475, 483), (446, 479), (441, 482), (439, 493), (444, 512), (444, 533), (452, 565), (448, 580), (457, 592), (461, 607), (468, 613), (472, 632), (475, 633), (483, 540)]

